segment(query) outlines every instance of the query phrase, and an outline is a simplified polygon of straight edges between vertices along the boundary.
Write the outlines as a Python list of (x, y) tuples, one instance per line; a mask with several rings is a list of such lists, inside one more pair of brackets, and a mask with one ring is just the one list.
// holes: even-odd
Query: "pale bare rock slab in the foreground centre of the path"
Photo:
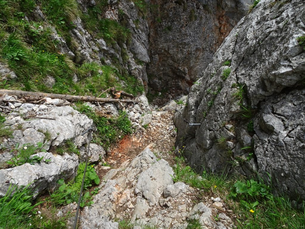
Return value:
[[(194, 205), (191, 200), (194, 190), (181, 182), (174, 184), (173, 175), (168, 162), (158, 161), (146, 148), (131, 162), (125, 161), (119, 169), (112, 169), (104, 176), (93, 199), (95, 203), (82, 211), (80, 228), (115, 229), (118, 224), (113, 222), (114, 218), (131, 219), (139, 228), (144, 225), (181, 228), (192, 217), (198, 218), (203, 228), (218, 228), (212, 220), (211, 208), (203, 202)], [(229, 222), (230, 218), (224, 217)]]

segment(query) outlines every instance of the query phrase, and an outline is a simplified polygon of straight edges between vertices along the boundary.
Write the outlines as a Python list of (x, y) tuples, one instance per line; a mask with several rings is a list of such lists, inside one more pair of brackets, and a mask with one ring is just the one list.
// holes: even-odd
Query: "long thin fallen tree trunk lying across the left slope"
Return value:
[[(120, 100), (120, 99), (107, 99), (107, 98), (96, 98), (91, 96), (73, 96), (73, 95), (61, 95), (43, 92), (29, 92), (19, 90), (6, 90), (0, 89), (0, 95), (11, 94), (18, 97), (23, 97), (27, 101), (37, 101), (43, 97), (50, 97), (52, 99), (62, 99), (69, 102), (84, 101), (84, 102), (99, 102), (99, 103), (137, 103), (133, 100)], [(28, 98), (27, 98), (28, 97)]]

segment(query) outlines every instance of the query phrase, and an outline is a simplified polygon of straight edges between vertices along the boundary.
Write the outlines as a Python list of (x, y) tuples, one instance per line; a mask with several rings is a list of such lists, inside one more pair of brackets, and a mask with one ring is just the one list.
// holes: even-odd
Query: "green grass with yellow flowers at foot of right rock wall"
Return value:
[[(173, 168), (174, 182), (185, 182), (204, 193), (212, 193), (212, 196), (222, 198), (237, 216), (234, 220), (237, 228), (305, 227), (305, 210), (293, 209), (288, 198), (271, 194), (271, 188), (260, 178), (257, 181), (236, 180), (235, 177), (215, 175), (206, 171), (199, 177), (190, 166), (184, 164), (183, 158), (176, 160), (176, 167)], [(196, 222), (194, 224), (197, 225)]]

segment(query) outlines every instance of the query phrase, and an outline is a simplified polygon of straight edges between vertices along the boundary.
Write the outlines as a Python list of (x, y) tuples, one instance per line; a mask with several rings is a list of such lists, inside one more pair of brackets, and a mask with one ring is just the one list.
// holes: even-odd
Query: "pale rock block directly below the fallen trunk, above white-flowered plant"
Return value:
[[(71, 139), (75, 139), (75, 145), (80, 147), (87, 139), (87, 135), (80, 136), (80, 134), (93, 124), (86, 115), (68, 106), (44, 107), (44, 105), (22, 104), (15, 110), (5, 121), (7, 124), (12, 124), (10, 127), (14, 129), (13, 138), (8, 139), (7, 147), (15, 146), (17, 143), (22, 147), (23, 144), (36, 145), (41, 142), (48, 150), (50, 146), (61, 146)], [(33, 120), (23, 119), (18, 112), (34, 114), (31, 116)]]

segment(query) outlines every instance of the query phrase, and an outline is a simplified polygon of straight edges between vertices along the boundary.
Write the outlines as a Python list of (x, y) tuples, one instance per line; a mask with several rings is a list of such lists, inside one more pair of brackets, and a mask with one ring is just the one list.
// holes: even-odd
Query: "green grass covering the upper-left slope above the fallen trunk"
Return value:
[[(58, 52), (57, 41), (52, 39), (53, 31), (49, 27), (41, 21), (33, 20), (35, 4), (32, 0), (0, 0), (0, 60), (7, 63), (17, 76), (16, 80), (0, 82), (1, 88), (96, 96), (109, 87), (121, 86), (117, 80), (119, 78), (125, 82), (124, 87), (120, 89), (127, 93), (138, 95), (144, 91), (142, 84), (127, 71), (117, 71), (123, 69), (119, 63), (113, 68), (77, 62), (78, 45), (68, 32), (74, 27), (71, 21), (83, 15), (76, 0), (41, 0), (39, 5), (48, 22), (74, 51), (75, 61), (80, 65)], [(116, 21), (99, 19), (97, 14), (101, 15), (102, 8), (106, 5), (107, 1), (97, 1), (97, 6), (88, 9), (88, 15), (95, 18), (94, 21), (89, 20), (90, 18), (87, 21), (88, 24), (92, 22), (94, 26), (93, 35), (100, 33), (110, 43), (126, 42), (130, 31)], [(25, 16), (29, 20), (25, 20)], [(126, 62), (127, 53), (122, 56)], [(81, 82), (73, 82), (75, 74)], [(51, 88), (44, 83), (47, 75), (55, 79)]]

